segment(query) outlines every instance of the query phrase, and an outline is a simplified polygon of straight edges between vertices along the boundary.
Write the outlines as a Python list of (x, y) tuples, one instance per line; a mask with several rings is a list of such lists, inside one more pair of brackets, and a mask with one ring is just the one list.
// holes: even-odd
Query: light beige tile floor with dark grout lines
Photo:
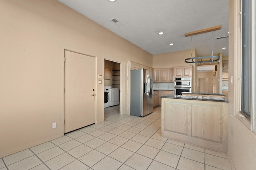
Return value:
[(0, 170), (231, 170), (227, 155), (161, 137), (161, 107), (145, 117), (105, 109), (105, 121), (0, 158)]

